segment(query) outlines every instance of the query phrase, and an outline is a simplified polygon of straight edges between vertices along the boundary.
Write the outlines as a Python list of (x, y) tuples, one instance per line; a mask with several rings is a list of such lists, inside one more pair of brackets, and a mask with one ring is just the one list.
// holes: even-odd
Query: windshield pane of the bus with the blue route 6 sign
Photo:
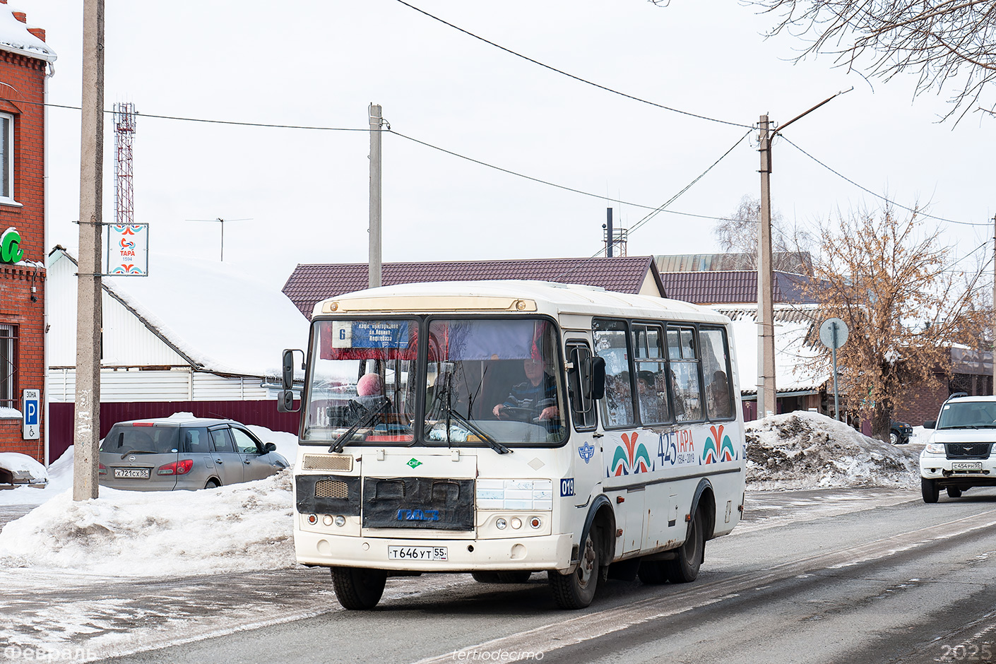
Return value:
[(415, 320), (316, 323), (302, 442), (413, 440), (417, 343)]

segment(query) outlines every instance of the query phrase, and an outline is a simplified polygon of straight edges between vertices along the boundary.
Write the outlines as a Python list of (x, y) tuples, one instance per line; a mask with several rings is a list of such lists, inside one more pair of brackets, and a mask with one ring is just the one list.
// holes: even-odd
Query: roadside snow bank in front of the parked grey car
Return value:
[(294, 567), (292, 475), (215, 490), (66, 491), (0, 531), (0, 567), (120, 576)]

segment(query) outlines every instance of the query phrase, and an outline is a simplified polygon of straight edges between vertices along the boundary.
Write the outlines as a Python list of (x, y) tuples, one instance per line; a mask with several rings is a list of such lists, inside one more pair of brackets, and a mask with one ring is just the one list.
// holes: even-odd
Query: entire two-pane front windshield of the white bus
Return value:
[(507, 451), (567, 439), (563, 362), (549, 320), (318, 321), (311, 357), (305, 444), (338, 451), (418, 440)]

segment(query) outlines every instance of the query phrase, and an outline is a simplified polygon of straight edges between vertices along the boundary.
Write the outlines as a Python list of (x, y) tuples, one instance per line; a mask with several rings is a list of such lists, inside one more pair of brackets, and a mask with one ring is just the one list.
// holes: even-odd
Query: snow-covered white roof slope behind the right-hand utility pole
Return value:
[[(714, 307), (733, 321), (740, 391), (757, 392), (757, 306)], [(775, 310), (775, 387), (779, 392), (814, 392), (830, 379), (825, 371), (814, 372), (806, 363), (818, 349), (806, 342), (813, 320), (799, 306)]]

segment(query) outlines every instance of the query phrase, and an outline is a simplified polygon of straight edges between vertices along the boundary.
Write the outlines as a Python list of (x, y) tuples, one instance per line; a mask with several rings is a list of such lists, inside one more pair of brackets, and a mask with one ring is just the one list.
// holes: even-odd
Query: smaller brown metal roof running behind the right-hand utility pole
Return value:
[[(695, 305), (737, 305), (757, 302), (757, 272), (664, 272), (660, 280), (673, 300)], [(775, 302), (813, 303), (804, 293), (809, 278), (788, 272), (775, 272)]]

